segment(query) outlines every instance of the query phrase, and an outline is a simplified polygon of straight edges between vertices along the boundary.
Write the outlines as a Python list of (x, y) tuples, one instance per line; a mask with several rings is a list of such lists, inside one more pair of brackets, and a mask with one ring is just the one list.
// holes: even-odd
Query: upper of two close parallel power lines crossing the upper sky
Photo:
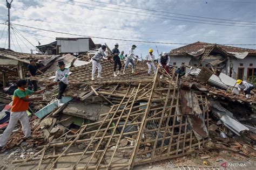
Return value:
[[(89, 0), (89, 1), (92, 1), (92, 0)], [(75, 2), (76, 2), (76, 1), (75, 1)], [(197, 17), (197, 18), (206, 18), (206, 19), (214, 19), (214, 20), (228, 20), (228, 21), (233, 21), (233, 22), (256, 23), (256, 22), (252, 22), (252, 21), (232, 20), (232, 19), (220, 19), (220, 18), (210, 18), (210, 17), (201, 17), (201, 16), (185, 15), (185, 14), (181, 14), (181, 13), (173, 13), (173, 12), (166, 12), (166, 11), (159, 11), (159, 10), (150, 10), (150, 9), (145, 9), (145, 8), (138, 8), (138, 7), (136, 7), (136, 6), (117, 5), (117, 4), (113, 4), (113, 3), (100, 2), (100, 1), (92, 1), (92, 2), (98, 2), (98, 3), (110, 4), (110, 5), (116, 5), (116, 6), (123, 6), (123, 7), (126, 7), (126, 8), (134, 8), (134, 9), (140, 9), (140, 10), (146, 10), (146, 11), (170, 13), (170, 14), (173, 14), (173, 15), (180, 15), (180, 16)]]

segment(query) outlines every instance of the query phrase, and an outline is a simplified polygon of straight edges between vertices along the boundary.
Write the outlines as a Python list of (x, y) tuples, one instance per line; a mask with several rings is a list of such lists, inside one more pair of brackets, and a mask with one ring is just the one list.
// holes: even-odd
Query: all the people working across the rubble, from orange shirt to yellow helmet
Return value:
[[(114, 60), (114, 76), (117, 76), (120, 74), (120, 70), (122, 68), (122, 62), (125, 61), (125, 67), (123, 70), (123, 74), (125, 74), (125, 70), (128, 68), (129, 64), (131, 63), (132, 66), (132, 73), (134, 74), (134, 61), (138, 59), (138, 55), (135, 55), (133, 53), (133, 50), (136, 48), (136, 45), (132, 45), (132, 47), (129, 49), (129, 53), (126, 56), (124, 56), (124, 52), (119, 52), (118, 44), (115, 45), (111, 52), (111, 57), (113, 57)], [(98, 78), (102, 78), (102, 66), (100, 65), (100, 61), (102, 59), (107, 59), (107, 55), (105, 54), (106, 46), (103, 45), (101, 49), (92, 57), (92, 80), (95, 80), (95, 72), (98, 68)], [(146, 55), (146, 62), (148, 66), (148, 74), (151, 73), (151, 69), (153, 69), (154, 74), (156, 73), (156, 66), (154, 65), (154, 55), (153, 55), (153, 49), (149, 49), (149, 54)], [(169, 73), (169, 63), (170, 63), (170, 56), (168, 53), (163, 52), (159, 58), (158, 63), (161, 67), (163, 67), (167, 73)], [(116, 73), (116, 69), (118, 67), (118, 71)], [(59, 86), (59, 93), (57, 97), (57, 103), (58, 107), (62, 107), (62, 96), (65, 91), (65, 89), (68, 87), (69, 81), (68, 81), (68, 75), (69, 75), (69, 68), (65, 68), (65, 63), (63, 61), (58, 62), (59, 69), (56, 71), (55, 79), (53, 80), (53, 84), (58, 84)], [(28, 74), (29, 76), (35, 76), (36, 73), (39, 72), (43, 74), (41, 70), (39, 70), (35, 64), (35, 60), (30, 61), (30, 65), (28, 66)], [(185, 74), (185, 67), (181, 66), (176, 70), (176, 74), (178, 76), (183, 76)], [(237, 80), (238, 84), (238, 90), (244, 91), (246, 97), (250, 97), (251, 90), (254, 88), (252, 84)], [(32, 91), (33, 86), (33, 91)], [(2, 137), (0, 139), (0, 148), (5, 146), (8, 139), (11, 136), (12, 131), (14, 130), (16, 124), (18, 121), (22, 124), (23, 133), (25, 134), (24, 139), (30, 139), (31, 138), (31, 131), (30, 131), (30, 125), (29, 125), (29, 117), (27, 114), (27, 110), (29, 109), (29, 102), (35, 101), (35, 100), (42, 100), (42, 97), (33, 97), (29, 98), (29, 95), (34, 94), (41, 94), (45, 89), (37, 91), (37, 82), (35, 80), (29, 80), (28, 82), (26, 80), (19, 80), (17, 82), (17, 87), (14, 91), (13, 101), (12, 101), (12, 107), (11, 107), (11, 114), (10, 114), (10, 121), (5, 129), (5, 131), (2, 134)], [(27, 89), (28, 88), (28, 89)]]

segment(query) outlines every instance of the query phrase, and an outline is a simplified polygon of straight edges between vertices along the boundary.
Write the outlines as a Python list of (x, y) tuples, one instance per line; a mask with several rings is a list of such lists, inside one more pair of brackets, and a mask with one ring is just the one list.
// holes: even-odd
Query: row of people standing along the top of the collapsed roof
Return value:
[[(126, 56), (124, 56), (124, 51), (120, 53), (118, 49), (119, 45), (118, 43), (114, 45), (114, 48), (111, 51), (110, 57), (113, 57), (114, 61), (114, 77), (118, 76), (120, 74), (121, 68), (122, 68), (122, 62), (125, 64), (123, 74), (125, 74), (125, 70), (128, 68), (129, 64), (131, 64), (132, 67), (132, 74), (135, 73), (135, 64), (134, 60), (138, 60), (138, 55), (135, 55), (133, 53), (133, 50), (137, 47), (136, 45), (132, 45), (131, 48), (129, 48), (129, 52)], [(105, 53), (106, 46), (103, 45), (99, 51), (92, 57), (92, 81), (95, 80), (95, 72), (98, 68), (98, 76), (97, 78), (102, 78), (102, 65), (100, 62), (102, 59), (109, 59)], [(154, 65), (155, 56), (153, 54), (153, 49), (149, 49), (149, 54), (146, 55), (145, 61), (147, 62), (148, 66), (148, 72), (147, 74), (150, 75), (151, 70), (153, 69), (154, 74), (156, 74), (156, 66)], [(163, 52), (159, 58), (158, 63), (160, 66), (162, 66), (167, 73), (169, 73), (169, 63), (170, 63), (170, 56), (168, 53)], [(118, 70), (117, 70), (118, 65)], [(185, 75), (185, 67), (181, 66), (179, 69), (177, 69), (177, 74), (179, 76)]]

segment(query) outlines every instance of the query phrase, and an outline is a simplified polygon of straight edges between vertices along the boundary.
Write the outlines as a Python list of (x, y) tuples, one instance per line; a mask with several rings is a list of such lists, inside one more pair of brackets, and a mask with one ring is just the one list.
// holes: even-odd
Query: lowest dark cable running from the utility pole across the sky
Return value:
[[(85, 36), (81, 34), (73, 34), (73, 33), (65, 33), (65, 32), (60, 32), (60, 31), (52, 31), (52, 30), (45, 30), (45, 29), (39, 29), (36, 27), (32, 26), (26, 26), (26, 25), (21, 25), (21, 24), (14, 24), (18, 26), (23, 26), (23, 27), (28, 27), (30, 29), (36, 29), (36, 30), (42, 30), (42, 31), (48, 31), (48, 32), (55, 32), (55, 33), (61, 33), (61, 34), (67, 34), (71, 36), (79, 36), (79, 37), (88, 37), (88, 38), (98, 38), (98, 39), (108, 39), (108, 40), (118, 40), (118, 41), (130, 41), (130, 42), (145, 42), (145, 43), (154, 43), (154, 44), (178, 44), (178, 45), (188, 45), (190, 43), (176, 43), (176, 42), (154, 42), (154, 41), (142, 41), (142, 40), (127, 40), (127, 39), (116, 39), (116, 38), (105, 38), (105, 37), (95, 37), (95, 36)], [(256, 44), (219, 44), (219, 45), (253, 45), (255, 46)]]

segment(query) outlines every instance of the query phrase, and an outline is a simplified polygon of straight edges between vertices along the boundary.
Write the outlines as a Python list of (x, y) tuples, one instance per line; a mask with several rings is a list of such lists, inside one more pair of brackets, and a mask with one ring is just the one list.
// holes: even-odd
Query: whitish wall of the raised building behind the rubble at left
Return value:
[(59, 53), (79, 53), (89, 51), (89, 39), (57, 40)]

